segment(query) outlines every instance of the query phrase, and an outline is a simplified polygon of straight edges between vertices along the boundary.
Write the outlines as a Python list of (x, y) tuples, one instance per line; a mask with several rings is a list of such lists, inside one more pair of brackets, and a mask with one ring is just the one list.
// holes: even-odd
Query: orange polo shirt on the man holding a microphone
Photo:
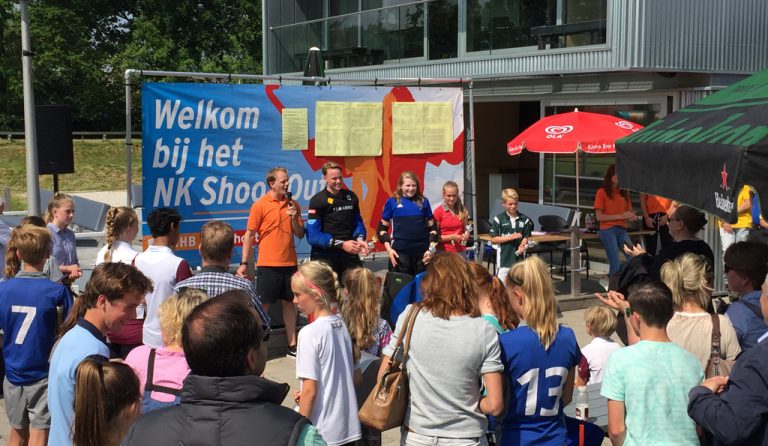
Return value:
[[(296, 212), (301, 208), (295, 201)], [(248, 230), (259, 234), (259, 257), (256, 266), (296, 266), (296, 245), (288, 215), (288, 199), (278, 200), (267, 192), (251, 206)]]

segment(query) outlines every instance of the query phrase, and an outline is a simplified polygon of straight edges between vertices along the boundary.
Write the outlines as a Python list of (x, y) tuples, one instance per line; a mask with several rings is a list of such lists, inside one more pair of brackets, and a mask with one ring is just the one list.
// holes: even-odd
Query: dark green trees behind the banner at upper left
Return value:
[[(2, 2), (0, 129), (23, 127), (19, 22)], [(76, 130), (123, 129), (128, 68), (261, 74), (259, 0), (33, 0), (30, 28), (35, 101), (70, 105)]]

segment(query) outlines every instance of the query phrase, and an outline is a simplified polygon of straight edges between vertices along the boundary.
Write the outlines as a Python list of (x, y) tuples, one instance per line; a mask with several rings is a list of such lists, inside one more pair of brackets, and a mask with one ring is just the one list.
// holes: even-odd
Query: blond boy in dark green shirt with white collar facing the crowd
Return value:
[(523, 258), (528, 237), (533, 231), (533, 222), (524, 214), (517, 212), (520, 200), (515, 189), (501, 191), (501, 204), (504, 212), (493, 217), (491, 221), (491, 243), (501, 246), (497, 265), (498, 276), (506, 280), (509, 268)]

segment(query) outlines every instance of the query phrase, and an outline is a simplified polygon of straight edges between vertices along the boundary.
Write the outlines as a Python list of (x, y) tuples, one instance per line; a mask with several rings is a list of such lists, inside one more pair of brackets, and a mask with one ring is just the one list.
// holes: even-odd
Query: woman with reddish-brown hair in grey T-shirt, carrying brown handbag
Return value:
[[(406, 362), (410, 400), (401, 444), (450, 439), (455, 446), (487, 445), (485, 415), (498, 416), (504, 405), (496, 330), (478, 317), (472, 274), (459, 254), (438, 253), (427, 265), (421, 287), (424, 300)], [(379, 379), (389, 369), (409, 310), (400, 314), (384, 348)], [(481, 377), (486, 396), (481, 395)]]

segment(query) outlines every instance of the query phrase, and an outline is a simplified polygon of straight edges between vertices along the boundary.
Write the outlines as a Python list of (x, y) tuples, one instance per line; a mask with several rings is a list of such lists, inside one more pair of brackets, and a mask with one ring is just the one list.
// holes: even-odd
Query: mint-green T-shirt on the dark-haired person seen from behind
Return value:
[(640, 341), (611, 353), (600, 394), (624, 402), (625, 446), (694, 446), (688, 392), (703, 378), (699, 360), (677, 344)]

